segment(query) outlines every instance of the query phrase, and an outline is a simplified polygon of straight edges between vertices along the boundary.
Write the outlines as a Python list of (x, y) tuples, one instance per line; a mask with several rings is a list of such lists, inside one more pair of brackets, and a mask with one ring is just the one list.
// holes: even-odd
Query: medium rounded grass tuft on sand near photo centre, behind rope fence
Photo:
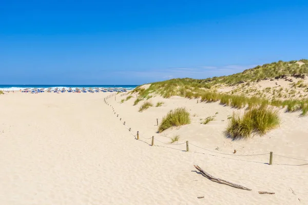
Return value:
[(158, 128), (158, 132), (162, 132), (174, 126), (190, 124), (189, 112), (185, 108), (176, 108), (163, 117), (163, 120)]

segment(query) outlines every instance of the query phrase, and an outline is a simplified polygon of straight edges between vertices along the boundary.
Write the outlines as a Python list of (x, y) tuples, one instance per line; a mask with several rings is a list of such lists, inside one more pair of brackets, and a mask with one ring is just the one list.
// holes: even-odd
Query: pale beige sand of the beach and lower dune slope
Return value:
[[(308, 204), (308, 166), (269, 166), (268, 155), (307, 159), (308, 117), (283, 113), (280, 129), (247, 141), (231, 141), (222, 131), (234, 109), (218, 103), (197, 104), (181, 97), (163, 99), (160, 108), (138, 112), (131, 98), (108, 93), (9, 93), (0, 96), (0, 204)], [(157, 134), (159, 121), (170, 110), (185, 106), (192, 124)], [(215, 121), (200, 118), (216, 114)], [(117, 117), (119, 114), (119, 117)], [(122, 121), (119, 118), (122, 118)], [(221, 121), (224, 120), (224, 121)], [(126, 122), (127, 128), (123, 125)], [(178, 143), (151, 147), (134, 139), (154, 135), (163, 142), (180, 134)], [(141, 138), (142, 139), (142, 138)], [(143, 139), (150, 143), (151, 139)], [(168, 148), (169, 147), (169, 148)], [(175, 148), (175, 149), (170, 149)], [(200, 154), (196, 152), (202, 152)], [(256, 161), (256, 162), (250, 162)], [(260, 163), (257, 163), (260, 162)], [(274, 155), (274, 163), (308, 163)], [(220, 185), (197, 174), (193, 165), (253, 191)], [(294, 195), (291, 191), (294, 190)], [(260, 195), (258, 191), (275, 192)], [(198, 196), (204, 198), (198, 199)]]

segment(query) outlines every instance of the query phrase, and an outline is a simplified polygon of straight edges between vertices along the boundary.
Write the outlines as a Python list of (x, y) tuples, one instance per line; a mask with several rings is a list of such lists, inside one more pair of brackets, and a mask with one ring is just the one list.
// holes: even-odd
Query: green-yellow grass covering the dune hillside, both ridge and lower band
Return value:
[[(302, 64), (303, 65), (299, 65)], [(305, 95), (300, 95), (302, 98), (300, 100), (280, 100), (280, 99), (266, 99), (267, 95), (263, 92), (258, 91), (259, 94), (254, 95), (254, 97), (248, 97), (247, 94), (250, 92), (257, 92), (256, 89), (251, 88), (248, 90), (244, 96), (239, 93), (243, 87), (248, 86), (251, 82), (258, 82), (262, 79), (269, 78), (283, 78), (285, 75), (293, 75), (296, 77), (304, 77), (303, 74), (308, 73), (308, 60), (301, 59), (299, 61), (278, 61), (272, 64), (264, 64), (262, 66), (257, 66), (252, 69), (243, 71), (242, 73), (237, 73), (229, 76), (213, 77), (206, 79), (191, 79), (191, 78), (176, 78), (166, 81), (161, 81), (157, 83), (152, 83), (148, 89), (144, 89), (139, 86), (133, 90), (133, 92), (138, 92), (141, 98), (150, 97), (151, 93), (156, 92), (156, 94), (161, 95), (164, 98), (169, 98), (174, 95), (186, 97), (189, 99), (201, 97), (199, 102), (213, 103), (220, 101), (221, 105), (231, 106), (233, 108), (244, 108), (247, 106), (251, 109), (255, 106), (261, 105), (271, 105), (276, 107), (286, 107), (288, 112), (295, 112), (302, 110), (305, 113), (306, 104), (308, 99), (303, 98)], [(219, 93), (217, 88), (221, 85), (232, 86), (239, 85), (238, 91), (232, 91), (230, 94)], [(294, 87), (304, 87), (303, 81), (300, 80), (298, 83), (293, 84)], [(250, 88), (249, 88), (250, 89)], [(272, 93), (276, 92), (275, 89), (265, 88), (264, 92)], [(281, 92), (283, 88), (277, 88), (277, 93)], [(281, 93), (277, 96), (293, 98), (295, 90), (291, 92), (291, 95), (282, 95)], [(308, 92), (308, 89), (307, 91)], [(273, 94), (274, 95), (274, 94)]]

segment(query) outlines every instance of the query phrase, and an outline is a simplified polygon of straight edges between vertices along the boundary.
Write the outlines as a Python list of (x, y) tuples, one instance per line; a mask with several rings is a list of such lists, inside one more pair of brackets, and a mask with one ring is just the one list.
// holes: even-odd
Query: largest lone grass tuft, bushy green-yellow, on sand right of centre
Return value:
[(253, 133), (262, 136), (279, 124), (278, 110), (269, 106), (255, 106), (242, 115), (239, 112), (233, 113), (225, 135), (232, 139), (249, 138)]

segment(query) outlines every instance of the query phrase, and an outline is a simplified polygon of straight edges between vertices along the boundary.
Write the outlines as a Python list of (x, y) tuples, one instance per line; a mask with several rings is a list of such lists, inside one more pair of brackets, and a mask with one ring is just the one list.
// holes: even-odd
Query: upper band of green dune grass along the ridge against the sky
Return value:
[[(299, 65), (299, 63), (304, 63)], [(139, 92), (142, 96), (147, 96), (151, 92), (158, 92), (161, 96), (168, 98), (174, 95), (183, 97), (199, 97), (196, 94), (199, 91), (210, 89), (218, 84), (227, 86), (243, 84), (249, 85), (249, 82), (257, 82), (265, 78), (281, 78), (283, 75), (306, 74), (308, 73), (308, 60), (299, 61), (281, 61), (271, 64), (264, 64), (255, 68), (244, 70), (242, 73), (236, 73), (228, 76), (212, 77), (206, 79), (176, 78), (157, 83), (152, 83), (148, 89), (141, 86), (134, 89), (133, 92)], [(244, 85), (244, 84), (243, 84)], [(301, 84), (297, 85), (300, 86)], [(191, 96), (192, 95), (192, 96)], [(213, 98), (215, 100), (215, 97)], [(209, 101), (209, 99), (207, 99)]]

